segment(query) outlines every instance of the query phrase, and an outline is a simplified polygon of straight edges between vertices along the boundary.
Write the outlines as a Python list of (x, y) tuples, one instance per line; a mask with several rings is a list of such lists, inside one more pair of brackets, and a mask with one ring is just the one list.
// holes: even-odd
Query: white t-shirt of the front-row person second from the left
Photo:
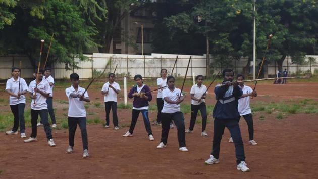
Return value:
[[(31, 81), (28, 88), (28, 92), (35, 94), (34, 92), (35, 86), (36, 86), (36, 81), (35, 80)], [(44, 79), (42, 79), (42, 81), (39, 84), (37, 84), (37, 88), (46, 94), (52, 93), (51, 87), (49, 86), (48, 82)], [(31, 109), (33, 110), (47, 109), (46, 97), (44, 97), (40, 93), (36, 93), (35, 105), (34, 105), (34, 99), (32, 99)]]

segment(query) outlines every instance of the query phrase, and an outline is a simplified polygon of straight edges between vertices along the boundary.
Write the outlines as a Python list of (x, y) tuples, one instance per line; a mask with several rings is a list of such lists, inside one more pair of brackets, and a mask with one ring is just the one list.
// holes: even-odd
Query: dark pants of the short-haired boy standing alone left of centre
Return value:
[(69, 145), (74, 147), (74, 136), (77, 124), (81, 129), (83, 150), (88, 150), (87, 130), (86, 130), (86, 117), (68, 117), (69, 124)]

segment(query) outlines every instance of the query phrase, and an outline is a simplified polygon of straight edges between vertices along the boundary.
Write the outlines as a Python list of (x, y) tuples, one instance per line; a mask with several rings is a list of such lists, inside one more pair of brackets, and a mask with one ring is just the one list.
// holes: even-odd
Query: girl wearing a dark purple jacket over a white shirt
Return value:
[(136, 81), (137, 85), (132, 87), (128, 94), (129, 98), (134, 98), (131, 124), (129, 131), (127, 131), (127, 133), (125, 133), (123, 137), (133, 136), (134, 128), (136, 126), (139, 113), (141, 112), (149, 140), (153, 141), (154, 137), (152, 135), (150, 120), (148, 116), (149, 102), (152, 100), (152, 95), (151, 93), (149, 93), (150, 88), (147, 85), (143, 84), (142, 76), (140, 74), (135, 75), (134, 80)]

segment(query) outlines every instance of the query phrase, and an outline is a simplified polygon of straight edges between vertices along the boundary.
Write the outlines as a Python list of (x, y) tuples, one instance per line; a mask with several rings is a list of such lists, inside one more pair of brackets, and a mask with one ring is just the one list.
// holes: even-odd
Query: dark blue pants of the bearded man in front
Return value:
[(239, 164), (241, 161), (245, 161), (245, 154), (241, 131), (237, 119), (214, 120), (213, 146), (211, 155), (213, 155), (216, 159), (219, 159), (220, 143), (225, 127), (230, 130), (233, 142), (235, 144), (236, 163)]

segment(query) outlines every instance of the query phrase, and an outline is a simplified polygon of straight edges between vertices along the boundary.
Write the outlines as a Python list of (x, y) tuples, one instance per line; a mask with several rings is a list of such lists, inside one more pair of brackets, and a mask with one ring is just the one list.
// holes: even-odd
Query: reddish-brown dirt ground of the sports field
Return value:
[[(153, 87), (154, 88), (154, 87)], [(189, 92), (190, 87), (185, 91)], [(318, 101), (318, 83), (289, 83), (257, 85), (258, 97), (252, 100), (279, 102), (286, 99), (314, 99)], [(92, 101), (102, 102), (97, 88), (89, 91)], [(212, 92), (212, 91), (211, 91)], [(207, 104), (215, 104), (213, 93)], [(6, 94), (0, 92), (0, 97)], [(154, 98), (156, 94), (153, 94)], [(67, 100), (64, 89), (55, 90), (55, 100)], [(119, 102), (123, 99), (119, 100)], [(189, 95), (184, 103), (189, 103)], [(155, 103), (155, 100), (151, 103)], [(55, 107), (58, 103), (54, 103)], [(2, 106), (1, 110), (9, 110)], [(62, 107), (61, 107), (62, 108)], [(57, 107), (57, 113), (62, 109)], [(26, 106), (29, 110), (29, 105)], [(103, 107), (87, 111), (99, 111), (103, 119)], [(120, 124), (130, 124), (131, 110), (118, 110)], [(89, 117), (89, 116), (88, 116)], [(150, 112), (151, 120), (156, 118)], [(200, 118), (200, 117), (199, 117)], [(211, 121), (211, 116), (208, 117)], [(185, 115), (186, 128), (190, 115)], [(79, 129), (75, 136), (75, 152), (66, 154), (68, 130), (54, 130), (56, 147), (49, 147), (43, 128), (38, 128), (38, 142), (23, 143), (20, 135), (6, 136), (0, 133), (0, 178), (315, 178), (318, 171), (318, 119), (316, 114), (292, 114), (282, 120), (267, 114), (266, 120), (254, 118), (254, 138), (257, 146), (248, 145), (248, 131), (244, 120), (240, 127), (245, 156), (250, 172), (236, 170), (235, 149), (228, 143), (226, 129), (221, 143), (220, 163), (205, 165), (209, 158), (213, 136), (213, 122), (207, 124), (208, 137), (201, 137), (201, 124), (194, 133), (186, 135), (189, 152), (178, 150), (177, 129), (171, 129), (167, 147), (156, 149), (160, 142), (161, 127), (152, 126), (155, 140), (149, 141), (141, 116), (134, 136), (122, 135), (128, 127), (115, 131), (99, 125), (88, 125), (89, 159), (82, 159), (82, 141)], [(27, 135), (31, 128), (26, 129)]]

